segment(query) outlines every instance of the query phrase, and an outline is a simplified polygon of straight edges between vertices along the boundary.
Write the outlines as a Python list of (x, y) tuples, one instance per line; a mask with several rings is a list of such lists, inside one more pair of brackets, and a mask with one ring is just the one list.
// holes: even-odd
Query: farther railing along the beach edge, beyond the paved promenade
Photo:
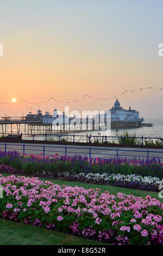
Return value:
[[(0, 134), (3, 134), (4, 135), (4, 133), (0, 133)], [(78, 142), (78, 141), (76, 141), (76, 138), (78, 139), (84, 139), (85, 141), (84, 142), (89, 142), (89, 143), (94, 143), (96, 140), (99, 140), (99, 143), (108, 143), (109, 144), (109, 142), (110, 142), (110, 144), (112, 143), (112, 142), (114, 142), (114, 143), (116, 143), (117, 142), (117, 144), (118, 144), (118, 140), (122, 140), (122, 144), (123, 145), (127, 145), (126, 143), (125, 143), (125, 140), (126, 139), (137, 139), (137, 140), (139, 140), (139, 142), (140, 142), (140, 144), (139, 145), (145, 145), (145, 140), (158, 140), (159, 142), (161, 142), (161, 144), (162, 144), (162, 146), (163, 146), (163, 138), (161, 138), (161, 136), (158, 136), (158, 137), (148, 137), (148, 136), (107, 136), (107, 135), (89, 135), (89, 134), (87, 134), (87, 135), (76, 135), (76, 134), (48, 134), (48, 133), (45, 133), (45, 134), (25, 134), (25, 133), (20, 133), (20, 134), (17, 134), (17, 133), (12, 133), (12, 134), (9, 134), (9, 133), (7, 133), (6, 135), (8, 135), (9, 136), (9, 138), (11, 138), (11, 135), (21, 135), (21, 136), (23, 136), (23, 135), (26, 135), (26, 136), (32, 136), (33, 137), (33, 140), (35, 140), (34, 138), (35, 138), (35, 136), (45, 136), (45, 141), (48, 141), (48, 139), (47, 139), (47, 137), (48, 136), (53, 136), (56, 140), (54, 140), (54, 141), (64, 141), (64, 139), (66, 138), (68, 138), (68, 139), (70, 139), (69, 141), (71, 141), (71, 142)], [(72, 140), (71, 140), (71, 138), (72, 138)], [(68, 141), (68, 139), (67, 139), (67, 141)], [(110, 139), (111, 139), (111, 141), (110, 141)], [(117, 140), (117, 141), (116, 141)], [(66, 141), (65, 141), (66, 142)], [(152, 145), (152, 144), (151, 144)]]

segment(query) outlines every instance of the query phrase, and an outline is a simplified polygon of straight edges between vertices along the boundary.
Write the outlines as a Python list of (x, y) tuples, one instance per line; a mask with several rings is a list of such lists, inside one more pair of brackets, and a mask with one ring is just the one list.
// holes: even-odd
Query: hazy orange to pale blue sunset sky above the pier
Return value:
[[(108, 110), (114, 98), (61, 101), (163, 88), (163, 57), (158, 55), (162, 12), (162, 0), (1, 0), (0, 116), (38, 109), (52, 113), (64, 106)], [(163, 90), (152, 89), (126, 93), (118, 100), (145, 119), (158, 118), (162, 96)], [(17, 102), (11, 103), (12, 98)]]

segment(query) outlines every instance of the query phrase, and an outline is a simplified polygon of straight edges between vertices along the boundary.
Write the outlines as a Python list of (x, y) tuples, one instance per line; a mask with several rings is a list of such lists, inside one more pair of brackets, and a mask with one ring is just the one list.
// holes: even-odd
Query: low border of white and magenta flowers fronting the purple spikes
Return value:
[[(17, 171), (16, 169), (8, 165), (0, 165), (0, 172), (9, 174), (26, 174), (25, 171)], [(62, 180), (87, 182), (87, 183), (100, 183), (109, 184), (116, 187), (140, 189), (147, 191), (159, 192), (159, 188), (163, 186), (163, 179), (160, 180), (158, 177), (142, 177), (135, 174), (123, 175), (123, 174), (98, 174), (98, 173), (88, 173), (80, 172), (76, 174), (74, 172), (57, 172), (53, 176), (53, 172), (49, 171), (48, 174), (45, 171), (38, 172), (37, 175), (41, 177), (51, 177), (60, 178)]]

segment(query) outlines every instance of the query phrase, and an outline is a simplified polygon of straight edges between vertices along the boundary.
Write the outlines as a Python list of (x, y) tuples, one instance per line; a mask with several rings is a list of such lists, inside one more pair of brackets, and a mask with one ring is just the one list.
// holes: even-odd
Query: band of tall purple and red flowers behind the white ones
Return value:
[(16, 170), (23, 170), (26, 175), (29, 174), (57, 174), (58, 172), (68, 171), (70, 173), (79, 174), (80, 172), (98, 173), (98, 174), (123, 174), (123, 175), (140, 175), (142, 177), (152, 176), (163, 178), (163, 163), (158, 158), (151, 158), (146, 160), (133, 159), (89, 159), (88, 157), (60, 157), (56, 156), (44, 157), (26, 156), (16, 151), (4, 152), (0, 151), (0, 165), (9, 165)]

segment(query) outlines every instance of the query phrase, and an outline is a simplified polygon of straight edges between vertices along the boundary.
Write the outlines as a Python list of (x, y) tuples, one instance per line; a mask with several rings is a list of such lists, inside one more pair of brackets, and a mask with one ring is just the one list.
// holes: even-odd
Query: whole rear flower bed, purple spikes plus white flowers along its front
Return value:
[[(0, 152), (0, 171), (10, 174), (62, 178), (110, 184), (118, 187), (159, 191), (163, 185), (160, 159), (89, 159), (87, 157), (26, 156), (16, 151)], [(145, 176), (146, 174), (146, 176)]]

